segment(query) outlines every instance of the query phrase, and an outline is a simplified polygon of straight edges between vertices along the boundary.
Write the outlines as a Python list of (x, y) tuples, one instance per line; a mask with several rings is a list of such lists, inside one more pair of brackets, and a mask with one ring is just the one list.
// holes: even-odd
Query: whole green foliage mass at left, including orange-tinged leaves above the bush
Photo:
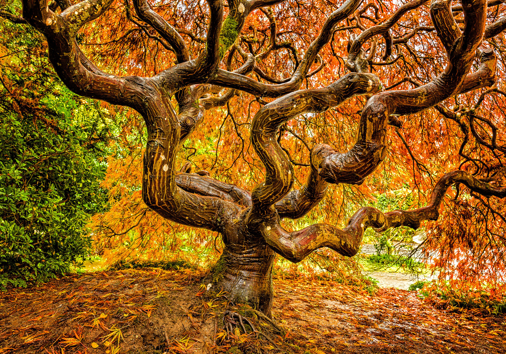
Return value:
[(65, 89), (29, 26), (2, 23), (0, 290), (70, 272), (89, 254), (86, 225), (107, 204), (101, 108)]

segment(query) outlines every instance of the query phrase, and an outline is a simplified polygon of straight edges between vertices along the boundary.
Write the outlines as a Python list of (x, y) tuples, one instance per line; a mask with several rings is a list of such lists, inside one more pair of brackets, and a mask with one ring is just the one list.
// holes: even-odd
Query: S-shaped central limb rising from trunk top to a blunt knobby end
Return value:
[(351, 73), (317, 90), (301, 90), (265, 105), (254, 117), (251, 143), (266, 167), (265, 183), (251, 193), (252, 208), (245, 225), (255, 229), (264, 219), (275, 214), (274, 204), (293, 185), (293, 167), (276, 140), (279, 127), (294, 116), (307, 112), (324, 112), (356, 95), (375, 93), (381, 87), (377, 76)]

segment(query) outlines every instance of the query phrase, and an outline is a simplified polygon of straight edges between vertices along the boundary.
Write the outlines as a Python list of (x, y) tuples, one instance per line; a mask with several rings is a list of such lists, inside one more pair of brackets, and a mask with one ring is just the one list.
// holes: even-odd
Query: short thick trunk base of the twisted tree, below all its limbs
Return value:
[(271, 317), (272, 266), (275, 252), (263, 238), (226, 244), (218, 262), (203, 280), (207, 291), (227, 291), (230, 300), (248, 304)]

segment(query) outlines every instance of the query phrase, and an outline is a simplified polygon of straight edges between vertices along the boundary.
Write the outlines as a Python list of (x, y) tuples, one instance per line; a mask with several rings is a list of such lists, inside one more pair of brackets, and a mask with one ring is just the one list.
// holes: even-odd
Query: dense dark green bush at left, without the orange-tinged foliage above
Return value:
[[(105, 167), (70, 118), (60, 131), (0, 113), (0, 274), (46, 281), (86, 257), (86, 224), (106, 202)], [(4, 281), (5, 283), (5, 281)]]

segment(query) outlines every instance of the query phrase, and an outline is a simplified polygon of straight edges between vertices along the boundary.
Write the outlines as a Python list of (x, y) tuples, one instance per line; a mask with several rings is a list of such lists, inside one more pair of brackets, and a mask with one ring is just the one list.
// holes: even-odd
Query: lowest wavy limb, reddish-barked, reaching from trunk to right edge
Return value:
[(437, 220), (444, 195), (455, 183), (461, 183), (472, 192), (483, 196), (506, 197), (506, 187), (493, 187), (468, 172), (457, 170), (446, 173), (438, 181), (425, 207), (414, 210), (394, 210), (387, 213), (370, 206), (363, 207), (348, 220), (348, 225), (343, 230), (331, 225), (315, 224), (303, 230), (288, 233), (279, 225), (278, 220), (264, 222), (260, 230), (269, 246), (292, 262), (303, 260), (321, 247), (329, 247), (342, 255), (353, 256), (357, 253), (362, 236), (368, 227), (374, 228), (377, 232), (400, 226), (417, 229), (424, 220)]

